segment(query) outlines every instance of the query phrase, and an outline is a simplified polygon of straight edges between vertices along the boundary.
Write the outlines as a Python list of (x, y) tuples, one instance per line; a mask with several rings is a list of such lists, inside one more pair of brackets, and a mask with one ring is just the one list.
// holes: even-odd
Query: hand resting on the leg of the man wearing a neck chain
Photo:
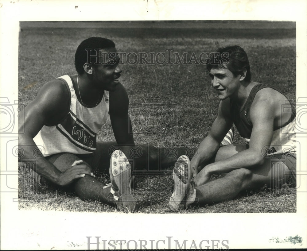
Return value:
[(58, 184), (60, 186), (66, 186), (73, 182), (75, 179), (84, 177), (85, 175), (90, 175), (95, 177), (91, 168), (86, 164), (81, 164), (82, 160), (76, 160), (72, 165), (64, 172), (60, 174)]

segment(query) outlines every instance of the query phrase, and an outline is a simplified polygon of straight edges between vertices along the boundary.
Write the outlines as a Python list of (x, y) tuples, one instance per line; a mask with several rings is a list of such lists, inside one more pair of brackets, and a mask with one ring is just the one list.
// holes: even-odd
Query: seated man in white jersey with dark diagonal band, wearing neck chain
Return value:
[[(36, 165), (30, 166), (30, 173), (37, 182), (70, 186), (82, 199), (116, 203), (119, 209), (132, 211), (136, 203), (131, 194), (129, 160), (134, 169), (153, 170), (159, 164), (172, 166), (174, 158), (148, 146), (147, 160), (147, 145), (142, 149), (134, 145), (129, 133), (129, 100), (119, 82), (122, 70), (113, 41), (101, 37), (82, 41), (76, 50), (75, 67), (76, 75), (46, 83), (25, 107), (25, 117), (19, 120), (20, 131), (24, 128), (19, 137), (19, 161), (29, 166), (27, 160), (35, 153)], [(96, 142), (108, 114), (116, 142)], [(141, 156), (133, 156), (136, 147)], [(111, 186), (100, 183), (93, 174), (106, 170)]]

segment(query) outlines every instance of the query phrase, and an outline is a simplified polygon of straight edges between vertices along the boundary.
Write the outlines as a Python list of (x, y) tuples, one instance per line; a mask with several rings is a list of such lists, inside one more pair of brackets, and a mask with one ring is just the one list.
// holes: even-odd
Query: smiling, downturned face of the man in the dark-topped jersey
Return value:
[(216, 90), (218, 98), (224, 100), (229, 97), (236, 96), (240, 87), (240, 75), (234, 74), (227, 68), (212, 68), (209, 76), (211, 84)]

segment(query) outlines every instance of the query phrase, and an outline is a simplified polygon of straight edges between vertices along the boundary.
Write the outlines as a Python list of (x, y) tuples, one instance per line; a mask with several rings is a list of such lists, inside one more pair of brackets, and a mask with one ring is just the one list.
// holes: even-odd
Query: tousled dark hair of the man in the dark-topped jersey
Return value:
[[(243, 69), (246, 69), (245, 80), (251, 81), (251, 69), (248, 57), (246, 52), (239, 45), (229, 45), (218, 48), (214, 54), (217, 55), (215, 61), (220, 63), (214, 64), (214, 60), (209, 60), (209, 63), (207, 64), (208, 71), (210, 71), (212, 68), (227, 68), (235, 76), (238, 76)], [(225, 58), (228, 59), (226, 60), (228, 61), (226, 64)]]

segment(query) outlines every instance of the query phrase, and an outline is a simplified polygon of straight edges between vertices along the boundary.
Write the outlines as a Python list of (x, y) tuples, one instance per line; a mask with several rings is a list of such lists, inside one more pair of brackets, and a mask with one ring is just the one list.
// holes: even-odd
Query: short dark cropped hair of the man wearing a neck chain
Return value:
[[(99, 62), (99, 54), (95, 51), (95, 49), (107, 49), (107, 48), (115, 48), (115, 44), (112, 40), (103, 38), (103, 37), (89, 37), (79, 44), (76, 54), (75, 54), (75, 67), (79, 74), (84, 72), (84, 64), (85, 63), (93, 63)], [(90, 50), (90, 51), (89, 51)], [(87, 62), (87, 53), (90, 52), (90, 55), (97, 55), (95, 57), (90, 57), (90, 62)]]

